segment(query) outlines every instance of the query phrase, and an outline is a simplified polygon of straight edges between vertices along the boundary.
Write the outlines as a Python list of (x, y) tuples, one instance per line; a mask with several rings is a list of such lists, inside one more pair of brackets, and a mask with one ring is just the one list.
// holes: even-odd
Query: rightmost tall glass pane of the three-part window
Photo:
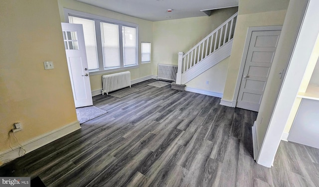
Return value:
[(136, 28), (123, 26), (124, 65), (135, 65), (136, 62)]

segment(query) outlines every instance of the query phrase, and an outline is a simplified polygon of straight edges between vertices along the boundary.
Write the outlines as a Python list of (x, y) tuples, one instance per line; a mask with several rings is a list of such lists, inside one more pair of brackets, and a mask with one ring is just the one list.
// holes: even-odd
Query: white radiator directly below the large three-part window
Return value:
[(102, 85), (104, 93), (120, 90), (126, 87), (131, 87), (131, 72), (120, 72), (102, 76)]

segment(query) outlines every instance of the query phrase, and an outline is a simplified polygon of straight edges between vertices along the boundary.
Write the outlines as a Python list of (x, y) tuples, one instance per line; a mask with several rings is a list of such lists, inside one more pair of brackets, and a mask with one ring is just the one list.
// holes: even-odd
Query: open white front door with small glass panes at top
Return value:
[(93, 105), (81, 24), (61, 23), (75, 107)]

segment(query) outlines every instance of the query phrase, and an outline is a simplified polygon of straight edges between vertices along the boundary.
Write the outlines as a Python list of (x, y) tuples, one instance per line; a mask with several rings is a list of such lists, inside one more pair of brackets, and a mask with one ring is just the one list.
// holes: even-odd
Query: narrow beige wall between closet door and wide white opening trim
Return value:
[[(279, 89), (281, 88), (281, 80), (279, 79), (278, 75), (287, 67), (287, 63), (290, 60), (292, 50), (295, 45), (296, 36), (299, 32), (299, 26), (304, 15), (305, 5), (306, 0), (291, 0), (289, 3), (287, 16), (285, 18), (281, 36), (278, 42), (278, 47), (274, 56), (273, 65), (256, 120), (258, 126), (257, 138), (260, 144), (262, 144), (265, 137), (279, 94)], [(294, 106), (290, 109), (293, 112), (296, 112), (296, 106), (298, 106), (299, 103), (300, 99), (297, 99)]]

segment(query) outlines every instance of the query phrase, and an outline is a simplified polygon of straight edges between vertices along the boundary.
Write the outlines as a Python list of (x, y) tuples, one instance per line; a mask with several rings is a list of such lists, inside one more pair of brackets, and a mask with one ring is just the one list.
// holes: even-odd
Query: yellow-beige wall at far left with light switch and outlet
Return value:
[(77, 121), (60, 22), (56, 0), (1, 1), (0, 152), (15, 122), (23, 143)]

